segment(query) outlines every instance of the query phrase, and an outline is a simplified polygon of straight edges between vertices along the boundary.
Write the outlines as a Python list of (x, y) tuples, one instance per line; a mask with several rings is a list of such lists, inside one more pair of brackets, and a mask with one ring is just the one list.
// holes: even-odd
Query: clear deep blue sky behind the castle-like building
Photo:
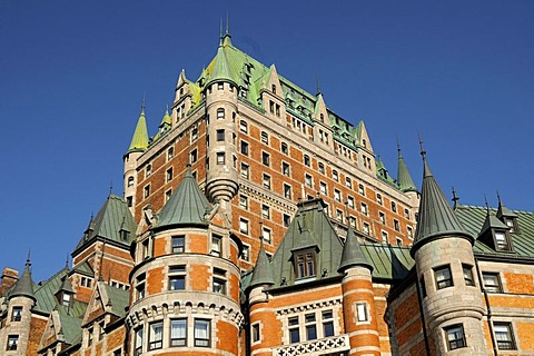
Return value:
[(352, 122), (419, 185), (417, 132), (461, 202), (533, 209), (534, 1), (0, 0), (0, 268), (65, 265), (109, 192), (147, 93), (156, 132), (182, 68), (234, 44)]

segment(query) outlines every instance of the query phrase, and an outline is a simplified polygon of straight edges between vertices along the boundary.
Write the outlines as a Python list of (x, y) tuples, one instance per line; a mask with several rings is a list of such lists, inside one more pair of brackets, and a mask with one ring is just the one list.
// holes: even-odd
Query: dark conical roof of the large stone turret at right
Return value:
[(419, 201), (419, 219), (417, 221), (414, 245), (412, 246), (412, 255), (415, 256), (415, 251), (427, 241), (448, 235), (464, 237), (473, 243), (473, 236), (465, 231), (432, 175), (425, 152), (422, 152), (422, 155), (424, 162), (423, 189)]

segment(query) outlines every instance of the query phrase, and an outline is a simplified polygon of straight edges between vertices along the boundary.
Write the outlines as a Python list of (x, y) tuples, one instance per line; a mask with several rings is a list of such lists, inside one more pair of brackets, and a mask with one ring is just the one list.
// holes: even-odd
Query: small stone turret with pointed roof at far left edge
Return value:
[[(2, 355), (26, 355), (31, 327), (31, 309), (36, 305), (33, 280), (30, 271), (30, 258), (24, 271), (8, 296), (8, 318), (6, 329), (0, 337), (0, 345), (6, 347)], [(4, 346), (7, 345), (7, 346)]]

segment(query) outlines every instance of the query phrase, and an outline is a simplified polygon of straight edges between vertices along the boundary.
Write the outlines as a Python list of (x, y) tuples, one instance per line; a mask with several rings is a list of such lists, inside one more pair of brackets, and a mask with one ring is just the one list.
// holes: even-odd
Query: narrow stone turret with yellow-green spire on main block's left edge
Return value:
[(122, 157), (125, 162), (123, 179), (125, 179), (125, 199), (130, 208), (131, 214), (135, 214), (136, 206), (136, 189), (137, 189), (137, 159), (148, 148), (148, 130), (147, 119), (145, 117), (145, 99), (142, 99), (141, 112), (137, 120), (136, 130), (131, 138), (130, 147)]

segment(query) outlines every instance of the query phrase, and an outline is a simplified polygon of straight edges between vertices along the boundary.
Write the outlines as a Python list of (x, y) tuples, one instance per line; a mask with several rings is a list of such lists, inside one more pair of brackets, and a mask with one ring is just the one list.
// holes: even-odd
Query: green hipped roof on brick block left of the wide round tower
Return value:
[[(122, 234), (121, 230), (128, 234)], [(130, 243), (136, 238), (136, 230), (137, 224), (128, 205), (122, 198), (111, 194), (95, 219), (91, 219), (89, 228), (81, 237), (76, 249), (96, 237), (130, 246)]]

